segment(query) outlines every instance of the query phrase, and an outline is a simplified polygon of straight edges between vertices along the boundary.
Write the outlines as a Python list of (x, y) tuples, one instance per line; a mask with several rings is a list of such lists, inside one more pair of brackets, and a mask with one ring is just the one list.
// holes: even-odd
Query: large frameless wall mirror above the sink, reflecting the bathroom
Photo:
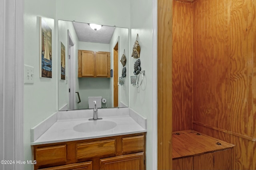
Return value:
[(59, 110), (88, 109), (93, 101), (99, 108), (128, 107), (128, 61), (120, 62), (123, 54), (128, 60), (128, 28), (101, 26), (58, 21)]

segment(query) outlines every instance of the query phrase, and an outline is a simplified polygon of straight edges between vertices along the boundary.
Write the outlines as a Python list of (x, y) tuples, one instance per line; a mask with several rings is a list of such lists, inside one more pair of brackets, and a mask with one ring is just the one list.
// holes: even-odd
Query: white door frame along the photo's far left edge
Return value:
[[(0, 2), (0, 159), (24, 160), (24, 0)], [(0, 164), (24, 170), (24, 165)]]

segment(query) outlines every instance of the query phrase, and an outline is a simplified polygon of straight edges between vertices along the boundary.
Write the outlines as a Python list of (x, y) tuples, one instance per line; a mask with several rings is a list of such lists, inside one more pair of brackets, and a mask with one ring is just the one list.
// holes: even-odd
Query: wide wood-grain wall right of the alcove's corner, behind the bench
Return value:
[(256, 0), (196, 0), (193, 129), (237, 145), (235, 169), (256, 169)]

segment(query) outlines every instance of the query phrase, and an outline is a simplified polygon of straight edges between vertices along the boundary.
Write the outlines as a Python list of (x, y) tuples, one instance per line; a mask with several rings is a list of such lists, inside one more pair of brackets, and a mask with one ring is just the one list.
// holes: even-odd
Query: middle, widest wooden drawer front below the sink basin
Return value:
[(116, 154), (116, 140), (104, 140), (76, 144), (76, 159)]

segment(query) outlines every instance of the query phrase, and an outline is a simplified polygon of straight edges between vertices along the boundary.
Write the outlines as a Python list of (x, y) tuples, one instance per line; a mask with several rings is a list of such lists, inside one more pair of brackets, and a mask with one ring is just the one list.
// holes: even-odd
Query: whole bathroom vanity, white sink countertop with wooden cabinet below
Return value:
[(34, 170), (144, 170), (146, 119), (129, 108), (57, 112), (31, 129)]

